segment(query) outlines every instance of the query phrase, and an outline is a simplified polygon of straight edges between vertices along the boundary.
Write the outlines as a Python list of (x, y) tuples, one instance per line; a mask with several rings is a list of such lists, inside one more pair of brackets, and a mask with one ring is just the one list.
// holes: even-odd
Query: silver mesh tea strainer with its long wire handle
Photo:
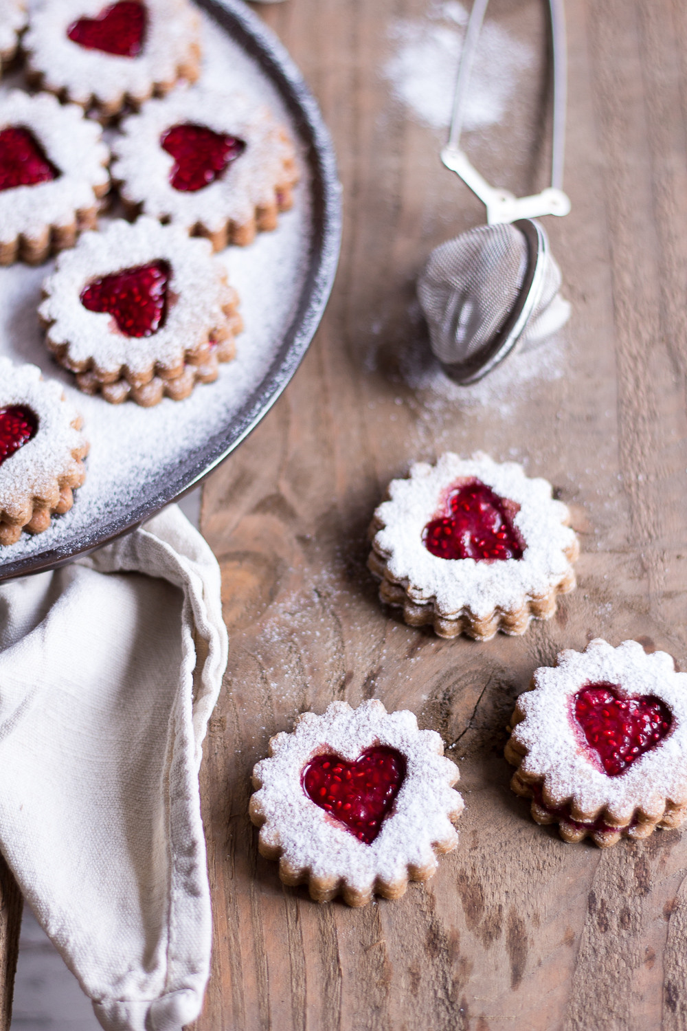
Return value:
[(487, 225), (433, 251), (418, 281), (432, 351), (459, 384), (481, 379), (520, 341), (555, 332), (570, 317), (560, 269), (549, 251), (543, 214), (568, 214), (562, 191), (565, 137), (565, 26), (562, 0), (549, 0), (553, 39), (551, 186), (531, 197), (495, 190), (460, 149), (465, 103), (488, 0), (475, 0), (460, 57), (443, 163), (486, 205)]

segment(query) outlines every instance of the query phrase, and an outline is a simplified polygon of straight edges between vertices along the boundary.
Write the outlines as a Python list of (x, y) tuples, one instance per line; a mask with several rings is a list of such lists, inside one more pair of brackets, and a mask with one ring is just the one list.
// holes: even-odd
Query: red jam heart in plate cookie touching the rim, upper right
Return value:
[(161, 137), (160, 145), (174, 158), (169, 181), (183, 193), (195, 193), (214, 182), (246, 148), (238, 136), (191, 123), (172, 126)]

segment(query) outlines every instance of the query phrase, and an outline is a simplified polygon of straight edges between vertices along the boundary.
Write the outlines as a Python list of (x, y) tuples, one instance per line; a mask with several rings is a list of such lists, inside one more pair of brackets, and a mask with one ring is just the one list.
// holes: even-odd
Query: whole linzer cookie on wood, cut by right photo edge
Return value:
[(687, 673), (637, 641), (591, 641), (535, 672), (506, 758), (539, 824), (602, 849), (687, 816)]

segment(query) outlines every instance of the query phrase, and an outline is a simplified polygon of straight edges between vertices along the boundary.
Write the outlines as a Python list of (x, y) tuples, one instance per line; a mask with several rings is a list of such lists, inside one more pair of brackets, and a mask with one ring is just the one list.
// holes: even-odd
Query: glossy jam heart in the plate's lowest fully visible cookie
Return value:
[(152, 336), (165, 321), (170, 268), (165, 261), (94, 279), (81, 293), (89, 311), (107, 311), (126, 336)]

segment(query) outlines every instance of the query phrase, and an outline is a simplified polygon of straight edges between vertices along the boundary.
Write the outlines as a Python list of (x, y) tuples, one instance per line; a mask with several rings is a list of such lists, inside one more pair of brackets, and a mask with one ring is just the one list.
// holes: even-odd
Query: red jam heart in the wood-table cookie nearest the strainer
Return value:
[(481, 479), (470, 479), (448, 492), (443, 511), (424, 527), (422, 541), (438, 559), (521, 559), (525, 542), (513, 523), (518, 510)]

